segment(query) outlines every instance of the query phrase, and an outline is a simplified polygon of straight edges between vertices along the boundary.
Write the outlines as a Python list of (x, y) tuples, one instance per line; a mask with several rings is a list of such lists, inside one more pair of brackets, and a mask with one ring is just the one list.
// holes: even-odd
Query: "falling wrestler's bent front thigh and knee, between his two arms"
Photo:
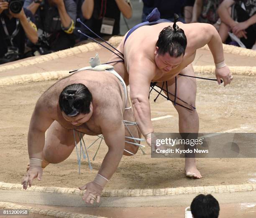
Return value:
[[(80, 141), (77, 132), (76, 141)], [(74, 147), (73, 129), (65, 129), (59, 122), (54, 121), (47, 130), (43, 152), (44, 160), (50, 163), (62, 162), (69, 157)]]

